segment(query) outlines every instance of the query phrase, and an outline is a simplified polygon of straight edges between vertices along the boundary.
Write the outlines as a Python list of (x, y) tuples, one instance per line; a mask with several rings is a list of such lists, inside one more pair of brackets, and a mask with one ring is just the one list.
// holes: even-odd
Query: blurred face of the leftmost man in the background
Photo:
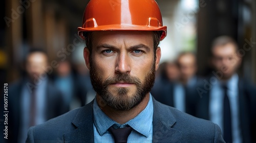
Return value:
[(45, 67), (47, 67), (47, 56), (44, 53), (35, 52), (27, 57), (26, 70), (32, 80), (45, 74)]

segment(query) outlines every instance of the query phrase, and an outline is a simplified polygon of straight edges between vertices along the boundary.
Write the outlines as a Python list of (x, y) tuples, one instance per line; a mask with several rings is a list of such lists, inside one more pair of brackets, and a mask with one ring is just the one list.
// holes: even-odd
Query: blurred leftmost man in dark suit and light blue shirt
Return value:
[(67, 112), (61, 92), (47, 76), (48, 57), (32, 49), (26, 58), (27, 76), (9, 86), (8, 142), (25, 142), (29, 127)]

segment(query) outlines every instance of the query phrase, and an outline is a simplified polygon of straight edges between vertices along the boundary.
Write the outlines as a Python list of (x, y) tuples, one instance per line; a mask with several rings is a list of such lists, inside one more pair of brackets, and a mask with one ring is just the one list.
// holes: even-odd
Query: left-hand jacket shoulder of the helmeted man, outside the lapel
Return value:
[(28, 131), (27, 142), (38, 142), (38, 140), (39, 142), (56, 142), (62, 140), (65, 133), (69, 133), (77, 128), (75, 124), (77, 122), (74, 122), (76, 118), (83, 118), (84, 120), (90, 116), (90, 113), (92, 114), (91, 111), (88, 111), (90, 107), (91, 104), (88, 104), (52, 118), (43, 124), (31, 127)]

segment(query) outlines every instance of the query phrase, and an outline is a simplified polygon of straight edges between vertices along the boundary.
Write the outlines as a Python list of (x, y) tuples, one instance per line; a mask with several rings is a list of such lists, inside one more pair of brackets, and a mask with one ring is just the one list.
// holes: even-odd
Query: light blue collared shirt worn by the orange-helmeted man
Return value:
[(152, 142), (153, 139), (153, 101), (150, 100), (147, 106), (135, 118), (125, 124), (118, 124), (108, 117), (98, 106), (96, 99), (93, 104), (94, 115), (94, 142), (114, 142), (112, 134), (108, 129), (114, 125), (123, 128), (129, 125), (133, 128), (127, 142)]

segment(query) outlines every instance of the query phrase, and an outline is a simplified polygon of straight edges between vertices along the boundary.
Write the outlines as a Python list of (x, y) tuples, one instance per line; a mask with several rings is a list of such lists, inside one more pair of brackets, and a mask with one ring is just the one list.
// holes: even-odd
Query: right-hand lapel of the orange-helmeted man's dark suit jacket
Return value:
[(181, 131), (172, 128), (176, 123), (172, 114), (167, 112), (165, 106), (162, 106), (154, 98), (153, 105), (153, 142), (178, 142), (181, 140)]

